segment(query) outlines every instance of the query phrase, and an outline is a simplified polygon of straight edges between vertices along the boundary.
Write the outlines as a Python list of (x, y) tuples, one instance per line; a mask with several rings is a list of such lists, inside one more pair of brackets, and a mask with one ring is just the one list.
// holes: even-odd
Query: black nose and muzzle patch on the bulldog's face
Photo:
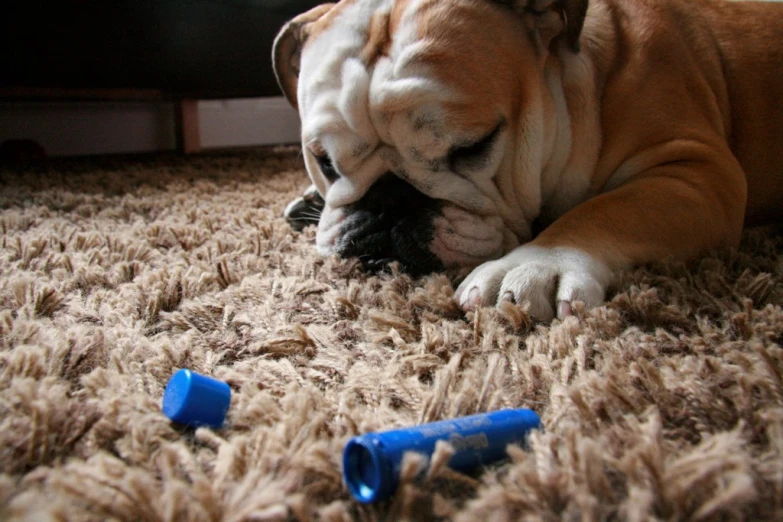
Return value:
[(413, 276), (442, 270), (443, 263), (429, 250), (440, 210), (440, 202), (387, 174), (346, 209), (337, 252), (359, 258), (370, 270), (391, 261)]

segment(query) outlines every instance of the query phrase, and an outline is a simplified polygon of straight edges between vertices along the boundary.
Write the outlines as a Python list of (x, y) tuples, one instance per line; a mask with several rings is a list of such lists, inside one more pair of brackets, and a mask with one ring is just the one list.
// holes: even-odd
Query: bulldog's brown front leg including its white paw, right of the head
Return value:
[(563, 318), (574, 301), (601, 304), (619, 269), (738, 245), (746, 191), (729, 154), (717, 161), (667, 162), (587, 200), (532, 242), (477, 267), (455, 298), (464, 310), (505, 299), (529, 303), (531, 315), (542, 321)]

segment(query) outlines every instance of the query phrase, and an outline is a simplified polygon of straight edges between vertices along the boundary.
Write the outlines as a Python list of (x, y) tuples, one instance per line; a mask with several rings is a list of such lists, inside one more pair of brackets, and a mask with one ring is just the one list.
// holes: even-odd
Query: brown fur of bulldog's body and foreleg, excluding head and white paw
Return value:
[[(640, 154), (647, 159), (622, 187), (577, 207), (535, 242), (627, 266), (736, 245), (744, 223), (783, 217), (783, 158), (773, 152), (783, 142), (783, 49), (774, 43), (783, 41), (783, 5), (604, 3), (611, 39), (622, 44), (595, 60), (611, 64), (598, 78), (595, 179), (608, 180)], [(664, 146), (672, 143), (679, 145)]]

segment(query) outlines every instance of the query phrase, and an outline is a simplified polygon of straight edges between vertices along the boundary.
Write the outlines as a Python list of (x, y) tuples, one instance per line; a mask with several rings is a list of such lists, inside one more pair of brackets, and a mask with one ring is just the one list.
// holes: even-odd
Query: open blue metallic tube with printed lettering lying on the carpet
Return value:
[(449, 467), (469, 471), (503, 459), (506, 446), (524, 444), (541, 419), (526, 409), (500, 410), (380, 433), (367, 433), (348, 441), (343, 451), (343, 478), (359, 502), (392, 496), (397, 489), (402, 457), (407, 451), (427, 458), (439, 440), (455, 452)]

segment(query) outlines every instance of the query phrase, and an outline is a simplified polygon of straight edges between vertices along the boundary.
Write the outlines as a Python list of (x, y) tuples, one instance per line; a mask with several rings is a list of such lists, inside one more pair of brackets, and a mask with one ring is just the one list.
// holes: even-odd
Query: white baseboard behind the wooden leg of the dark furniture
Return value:
[[(299, 116), (284, 98), (199, 102), (202, 146), (299, 141)], [(50, 156), (173, 150), (174, 105), (167, 102), (3, 102), (0, 142), (32, 139)]]

